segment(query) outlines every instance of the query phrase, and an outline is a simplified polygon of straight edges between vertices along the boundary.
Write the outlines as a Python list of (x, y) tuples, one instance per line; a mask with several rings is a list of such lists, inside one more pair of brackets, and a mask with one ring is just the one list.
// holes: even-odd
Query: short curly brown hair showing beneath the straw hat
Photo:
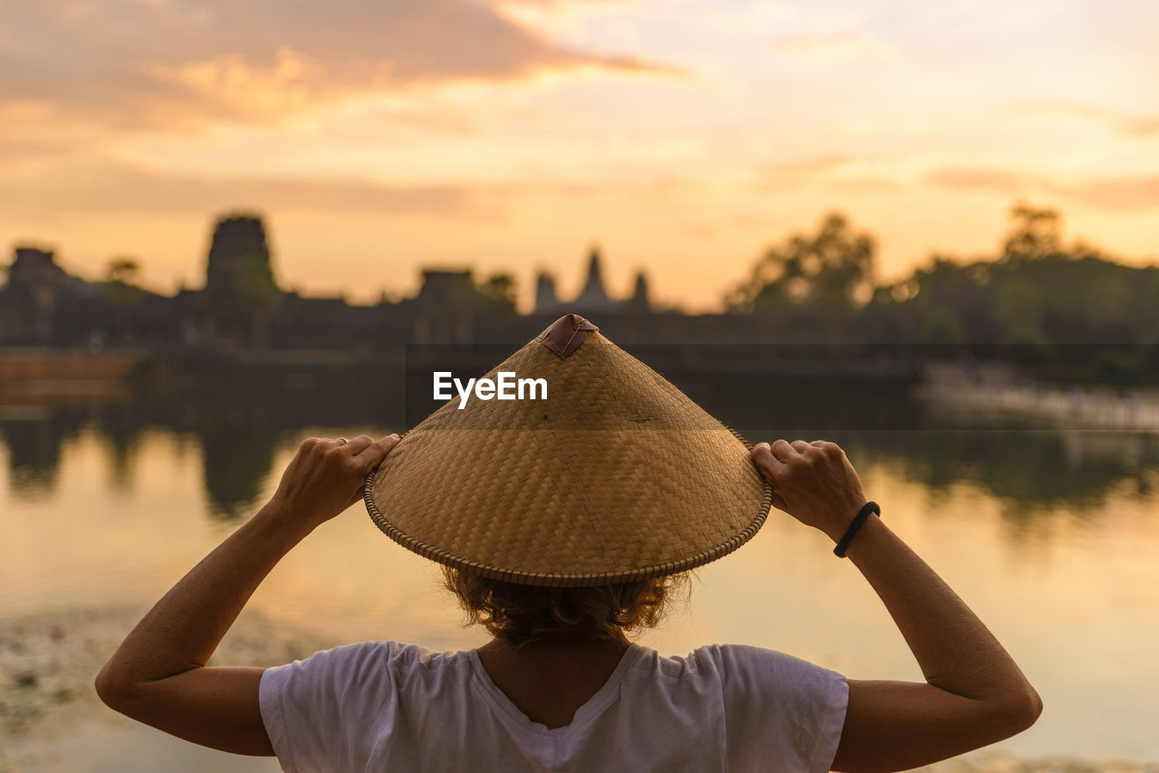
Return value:
[(443, 567), (443, 578), (466, 625), (482, 623), (513, 644), (618, 641), (625, 632), (656, 627), (671, 591), (688, 589), (687, 573), (591, 588), (519, 585), (452, 567)]

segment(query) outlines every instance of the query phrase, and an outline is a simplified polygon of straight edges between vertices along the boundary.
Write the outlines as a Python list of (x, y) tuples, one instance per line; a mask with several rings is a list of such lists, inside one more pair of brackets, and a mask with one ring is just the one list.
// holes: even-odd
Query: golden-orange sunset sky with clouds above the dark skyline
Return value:
[(826, 211), (891, 279), (1019, 199), (1159, 261), (1156, 39), (1142, 0), (10, 0), (0, 262), (170, 293), (243, 210), (304, 294), (471, 265), (526, 307), (598, 242), (613, 294), (710, 309)]

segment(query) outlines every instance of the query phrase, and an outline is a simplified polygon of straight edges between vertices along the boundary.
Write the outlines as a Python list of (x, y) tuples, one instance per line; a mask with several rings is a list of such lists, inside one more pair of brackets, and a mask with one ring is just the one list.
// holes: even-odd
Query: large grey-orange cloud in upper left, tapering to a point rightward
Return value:
[(276, 121), (352, 94), (598, 68), (586, 53), (472, 0), (45, 0), (0, 5), (0, 104), (57, 119), (195, 130)]

